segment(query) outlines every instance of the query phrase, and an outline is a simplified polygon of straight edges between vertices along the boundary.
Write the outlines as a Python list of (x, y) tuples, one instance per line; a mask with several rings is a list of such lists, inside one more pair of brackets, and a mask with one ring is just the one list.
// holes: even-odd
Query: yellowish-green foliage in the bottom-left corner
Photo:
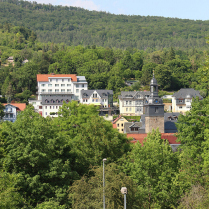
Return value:
[(24, 204), (24, 199), (14, 187), (18, 175), (0, 171), (0, 208), (16, 209)]

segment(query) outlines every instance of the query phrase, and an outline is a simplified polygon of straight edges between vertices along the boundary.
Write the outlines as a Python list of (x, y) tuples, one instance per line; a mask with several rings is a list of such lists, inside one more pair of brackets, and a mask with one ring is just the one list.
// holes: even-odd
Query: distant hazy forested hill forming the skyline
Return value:
[(154, 50), (208, 49), (209, 21), (114, 15), (76, 7), (0, 0), (0, 23), (35, 31), (41, 42)]

